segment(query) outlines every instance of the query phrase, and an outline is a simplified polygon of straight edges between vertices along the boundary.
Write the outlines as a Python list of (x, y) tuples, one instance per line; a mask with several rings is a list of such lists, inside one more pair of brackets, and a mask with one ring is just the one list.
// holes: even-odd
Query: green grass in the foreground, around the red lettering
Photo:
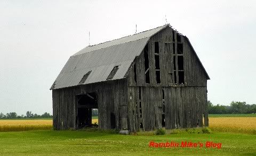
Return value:
[[(85, 131), (1, 132), (0, 155), (253, 155), (256, 135), (169, 134), (153, 136), (119, 135)], [(212, 141), (216, 148), (149, 148), (150, 141)]]

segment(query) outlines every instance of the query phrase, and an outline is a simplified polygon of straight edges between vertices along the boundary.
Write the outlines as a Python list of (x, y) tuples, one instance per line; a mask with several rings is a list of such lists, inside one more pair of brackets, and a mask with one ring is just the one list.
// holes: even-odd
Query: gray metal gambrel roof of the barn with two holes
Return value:
[(54, 81), (54, 88), (51, 89), (76, 86), (89, 71), (92, 72), (84, 84), (107, 81), (109, 73), (117, 65), (118, 70), (111, 80), (123, 79), (134, 58), (140, 55), (149, 38), (165, 27), (167, 25), (102, 44), (88, 46), (78, 51), (68, 59)]

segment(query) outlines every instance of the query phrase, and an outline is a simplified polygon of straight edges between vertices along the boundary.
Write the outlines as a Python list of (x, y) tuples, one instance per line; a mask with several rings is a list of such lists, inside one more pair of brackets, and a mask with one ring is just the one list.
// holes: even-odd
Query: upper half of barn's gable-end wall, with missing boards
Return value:
[[(146, 84), (145, 81), (145, 66), (144, 66), (144, 54), (142, 53), (135, 58), (134, 63), (137, 73), (137, 83), (134, 82), (134, 68), (131, 68), (131, 72), (128, 77), (129, 86), (206, 86), (207, 77), (200, 64), (198, 58), (195, 55), (195, 51), (188, 43), (188, 40), (180, 35), (181, 41), (177, 41), (177, 32), (174, 31), (174, 41), (172, 40), (173, 29), (167, 27), (159, 33), (156, 33), (148, 41), (148, 57), (149, 57), (149, 72), (150, 83)], [(159, 43), (159, 65), (161, 74), (161, 84), (156, 83), (155, 73), (155, 42)], [(169, 47), (166, 47), (168, 44)], [(173, 49), (173, 44), (175, 48)], [(177, 53), (177, 44), (183, 45), (183, 54)], [(175, 54), (173, 54), (173, 50)], [(173, 56), (183, 56), (183, 71), (185, 84), (174, 83), (174, 60)], [(178, 66), (177, 57), (175, 57), (175, 66)], [(177, 80), (179, 75), (177, 74)]]

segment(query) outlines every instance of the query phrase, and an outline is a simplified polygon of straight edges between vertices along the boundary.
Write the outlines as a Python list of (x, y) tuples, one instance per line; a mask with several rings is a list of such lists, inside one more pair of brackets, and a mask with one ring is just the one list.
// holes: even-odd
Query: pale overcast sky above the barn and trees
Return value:
[(186, 35), (215, 105), (256, 103), (255, 1), (0, 1), (0, 112), (52, 114), (49, 90), (90, 44), (167, 22)]

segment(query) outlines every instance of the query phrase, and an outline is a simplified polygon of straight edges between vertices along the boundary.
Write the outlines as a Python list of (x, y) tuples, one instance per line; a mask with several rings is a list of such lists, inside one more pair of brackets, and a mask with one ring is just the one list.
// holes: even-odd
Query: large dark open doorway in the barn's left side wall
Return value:
[(97, 126), (92, 124), (92, 109), (98, 109), (97, 92), (85, 93), (76, 96), (77, 98), (77, 115), (76, 127), (83, 128), (89, 126)]

